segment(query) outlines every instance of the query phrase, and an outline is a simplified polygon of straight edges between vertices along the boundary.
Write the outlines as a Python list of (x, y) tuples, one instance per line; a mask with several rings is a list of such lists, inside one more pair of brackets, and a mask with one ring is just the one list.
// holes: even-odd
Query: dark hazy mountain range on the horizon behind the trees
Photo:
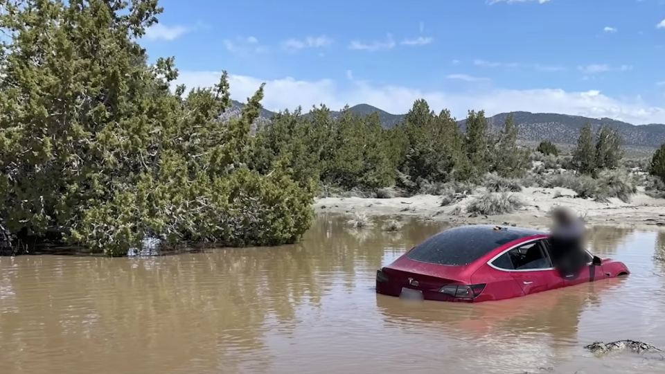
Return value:
[[(224, 114), (224, 117), (240, 114), (242, 103), (233, 100), (233, 107)], [(405, 114), (390, 114), (382, 109), (367, 104), (359, 104), (350, 108), (351, 112), (366, 116), (377, 112), (384, 127), (393, 127), (400, 123)], [(267, 109), (261, 110), (259, 121), (268, 121), (274, 113)], [(332, 112), (337, 116), (339, 112)], [(508, 113), (496, 114), (488, 118), (490, 126), (501, 127)], [(587, 118), (583, 116), (569, 116), (556, 113), (530, 113), (513, 112), (513, 121), (517, 124), (518, 137), (522, 141), (544, 141), (553, 143), (576, 143), (580, 127), (589, 121), (594, 131), (601, 125), (608, 125), (617, 130), (623, 137), (624, 145), (657, 148), (665, 141), (665, 125), (654, 123), (650, 125), (632, 125), (630, 123), (613, 120), (611, 118)], [(465, 121), (459, 121), (460, 127), (465, 129)]]

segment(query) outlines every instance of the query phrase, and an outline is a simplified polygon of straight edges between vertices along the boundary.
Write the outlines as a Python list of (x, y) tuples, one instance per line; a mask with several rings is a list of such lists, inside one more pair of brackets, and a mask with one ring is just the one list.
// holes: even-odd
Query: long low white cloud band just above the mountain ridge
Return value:
[[(211, 86), (218, 82), (219, 72), (181, 71), (177, 83), (187, 87)], [(488, 115), (524, 110), (540, 113), (562, 113), (589, 117), (617, 118), (630, 123), (665, 123), (665, 108), (648, 105), (642, 98), (613, 98), (599, 91), (569, 92), (562, 89), (503, 89), (482, 87), (468, 91), (422, 90), (414, 87), (371, 84), (361, 80), (314, 81), (281, 78), (265, 80), (244, 75), (231, 75), (233, 98), (245, 100), (266, 82), (266, 109), (293, 109), (298, 105), (308, 109), (325, 103), (339, 109), (344, 105), (366, 103), (391, 113), (406, 113), (414, 100), (424, 98), (436, 112), (443, 108), (463, 118), (468, 109), (485, 109)], [(347, 78), (353, 78), (348, 75)]]

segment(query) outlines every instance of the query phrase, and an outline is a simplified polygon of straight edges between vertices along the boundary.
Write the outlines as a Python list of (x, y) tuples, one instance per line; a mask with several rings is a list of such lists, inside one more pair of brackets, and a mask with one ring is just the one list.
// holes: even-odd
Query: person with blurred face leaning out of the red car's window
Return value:
[(566, 278), (577, 276), (586, 265), (584, 223), (569, 208), (552, 212), (553, 227), (549, 234), (550, 255), (554, 267)]

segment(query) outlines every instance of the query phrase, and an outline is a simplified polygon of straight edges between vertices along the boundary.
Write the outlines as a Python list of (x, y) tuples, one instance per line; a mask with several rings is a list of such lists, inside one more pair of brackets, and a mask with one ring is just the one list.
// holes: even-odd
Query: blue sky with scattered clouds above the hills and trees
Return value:
[[(231, 74), (267, 109), (425, 98), (464, 116), (511, 110), (665, 123), (664, 0), (162, 0), (144, 37), (179, 82)], [(306, 5), (305, 5), (306, 4)], [(659, 27), (662, 24), (663, 27)]]

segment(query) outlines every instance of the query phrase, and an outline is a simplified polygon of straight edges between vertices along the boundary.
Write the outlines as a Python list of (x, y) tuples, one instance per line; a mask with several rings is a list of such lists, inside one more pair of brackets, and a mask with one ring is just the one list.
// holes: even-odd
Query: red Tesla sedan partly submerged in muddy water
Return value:
[(604, 278), (627, 276), (623, 262), (589, 262), (563, 277), (549, 256), (547, 233), (513, 226), (469, 225), (441, 231), (376, 272), (376, 292), (408, 299), (511, 299)]

